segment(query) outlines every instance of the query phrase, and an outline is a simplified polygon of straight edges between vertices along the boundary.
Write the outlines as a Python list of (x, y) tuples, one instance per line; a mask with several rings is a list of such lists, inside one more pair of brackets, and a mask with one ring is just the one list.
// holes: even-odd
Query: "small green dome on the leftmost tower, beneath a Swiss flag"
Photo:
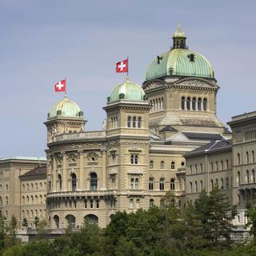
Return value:
[(50, 113), (48, 114), (49, 118), (55, 117), (65, 117), (65, 118), (82, 118), (83, 113), (77, 103), (67, 99), (66, 95), (60, 101), (54, 104), (51, 107)]

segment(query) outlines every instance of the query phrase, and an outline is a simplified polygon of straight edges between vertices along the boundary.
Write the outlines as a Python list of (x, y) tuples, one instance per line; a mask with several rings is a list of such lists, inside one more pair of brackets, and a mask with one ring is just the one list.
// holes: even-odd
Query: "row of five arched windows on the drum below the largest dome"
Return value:
[(182, 97), (181, 99), (181, 108), (182, 110), (198, 110), (206, 111), (207, 110), (207, 98), (190, 98)]

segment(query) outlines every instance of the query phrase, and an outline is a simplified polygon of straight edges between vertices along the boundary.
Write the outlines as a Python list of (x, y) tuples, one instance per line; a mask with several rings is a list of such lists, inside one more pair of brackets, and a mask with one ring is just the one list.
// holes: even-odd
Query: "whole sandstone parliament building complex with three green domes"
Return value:
[[(111, 214), (160, 206), (173, 192), (180, 207), (218, 185), (246, 222), (254, 198), (256, 113), (217, 116), (220, 87), (210, 62), (186, 45), (181, 27), (158, 54), (142, 86), (126, 78), (106, 95), (102, 130), (86, 130), (77, 103), (65, 95), (47, 115), (46, 159), (0, 161), (0, 210), (46, 219), (52, 230), (85, 221), (105, 227)], [(233, 135), (232, 135), (233, 134)]]

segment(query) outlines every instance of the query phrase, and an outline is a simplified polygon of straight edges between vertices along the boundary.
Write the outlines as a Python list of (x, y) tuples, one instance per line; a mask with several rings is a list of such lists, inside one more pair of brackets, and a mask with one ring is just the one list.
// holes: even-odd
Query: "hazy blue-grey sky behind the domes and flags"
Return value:
[(214, 66), (222, 122), (256, 110), (255, 10), (253, 0), (0, 0), (0, 157), (45, 155), (43, 122), (62, 98), (53, 85), (63, 77), (86, 130), (100, 130), (102, 106), (124, 79), (115, 62), (129, 55), (130, 77), (142, 83), (178, 23)]

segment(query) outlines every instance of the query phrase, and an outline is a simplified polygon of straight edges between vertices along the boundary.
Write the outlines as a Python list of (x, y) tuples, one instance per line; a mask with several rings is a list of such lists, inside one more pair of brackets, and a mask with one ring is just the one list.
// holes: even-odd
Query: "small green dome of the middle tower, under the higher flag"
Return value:
[(108, 103), (117, 102), (119, 100), (141, 102), (146, 100), (146, 95), (142, 86), (130, 82), (130, 78), (127, 77), (125, 82), (114, 87), (111, 91), (110, 97), (107, 98)]

